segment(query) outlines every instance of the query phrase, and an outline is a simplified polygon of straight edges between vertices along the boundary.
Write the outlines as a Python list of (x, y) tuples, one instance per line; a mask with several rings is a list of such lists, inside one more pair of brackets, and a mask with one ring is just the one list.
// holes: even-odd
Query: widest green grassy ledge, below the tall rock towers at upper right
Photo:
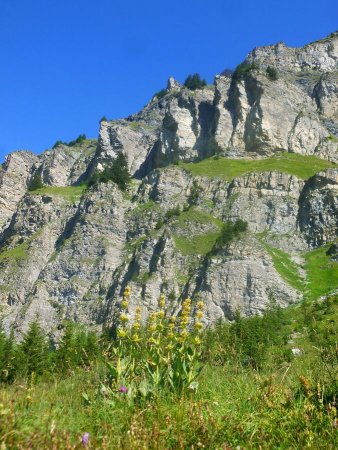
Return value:
[(270, 171), (284, 172), (306, 180), (321, 170), (336, 167), (334, 163), (316, 156), (286, 152), (254, 160), (212, 157), (197, 163), (179, 163), (179, 166), (194, 176), (219, 177), (227, 181), (248, 173)]

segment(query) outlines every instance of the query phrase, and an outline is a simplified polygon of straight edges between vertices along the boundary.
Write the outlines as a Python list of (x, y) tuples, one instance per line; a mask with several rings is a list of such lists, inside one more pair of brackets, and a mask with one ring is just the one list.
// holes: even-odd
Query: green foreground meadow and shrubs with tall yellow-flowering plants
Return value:
[(68, 324), (42, 368), (26, 335), (0, 388), (1, 448), (337, 448), (337, 296), (202, 330), (201, 301), (173, 327), (161, 297), (143, 329), (125, 294), (117, 339)]

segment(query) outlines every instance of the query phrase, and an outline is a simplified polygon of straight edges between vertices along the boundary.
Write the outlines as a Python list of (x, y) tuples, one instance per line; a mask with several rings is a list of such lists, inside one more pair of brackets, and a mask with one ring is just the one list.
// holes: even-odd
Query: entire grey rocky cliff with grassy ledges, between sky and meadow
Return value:
[[(206, 323), (311, 295), (311, 252), (326, 255), (337, 239), (337, 58), (337, 33), (256, 48), (212, 86), (191, 91), (170, 78), (138, 114), (103, 120), (97, 141), (9, 155), (0, 169), (6, 326), (20, 333), (38, 318), (57, 335), (65, 318), (114, 324), (127, 284), (144, 317), (164, 292), (168, 313), (187, 295), (203, 298)], [(88, 187), (120, 152), (133, 175), (127, 191)], [(36, 175), (44, 187), (29, 191)], [(247, 230), (220, 245), (238, 219)], [(328, 264), (327, 293), (337, 288), (337, 263)]]

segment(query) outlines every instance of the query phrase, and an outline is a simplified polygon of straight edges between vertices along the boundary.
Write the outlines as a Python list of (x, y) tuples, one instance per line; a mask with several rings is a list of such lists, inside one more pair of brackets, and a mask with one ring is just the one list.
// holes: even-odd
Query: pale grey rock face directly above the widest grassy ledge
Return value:
[(263, 154), (286, 150), (337, 161), (337, 142), (330, 140), (316, 104), (298, 85), (270, 81), (260, 73), (237, 82), (218, 77), (215, 98), (215, 138), (223, 153), (229, 148)]

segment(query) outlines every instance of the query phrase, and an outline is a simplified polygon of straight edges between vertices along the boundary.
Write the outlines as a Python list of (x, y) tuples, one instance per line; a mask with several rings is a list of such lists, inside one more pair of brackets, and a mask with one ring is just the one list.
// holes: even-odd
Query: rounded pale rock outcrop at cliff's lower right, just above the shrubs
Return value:
[[(257, 243), (248, 240), (234, 246), (230, 255), (212, 258), (196, 286), (205, 299), (208, 323), (234, 318), (236, 310), (245, 316), (262, 313), (271, 297), (282, 306), (296, 301), (297, 293), (281, 282), (272, 261)], [(235, 300), (236, 299), (236, 300)]]

